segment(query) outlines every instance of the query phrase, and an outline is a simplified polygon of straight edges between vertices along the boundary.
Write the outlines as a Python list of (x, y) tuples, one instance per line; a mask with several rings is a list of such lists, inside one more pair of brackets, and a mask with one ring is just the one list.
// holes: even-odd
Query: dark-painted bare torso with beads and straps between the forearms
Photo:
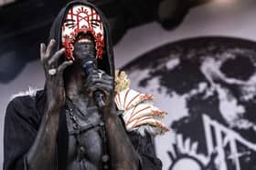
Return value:
[(69, 130), (67, 170), (101, 169), (102, 122), (97, 107), (88, 107), (83, 112), (75, 107), (66, 116)]

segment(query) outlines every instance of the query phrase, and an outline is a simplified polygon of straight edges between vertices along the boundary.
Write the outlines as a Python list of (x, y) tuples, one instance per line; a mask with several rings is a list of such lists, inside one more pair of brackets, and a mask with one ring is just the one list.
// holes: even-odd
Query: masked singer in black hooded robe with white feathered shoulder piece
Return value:
[(153, 136), (167, 130), (165, 112), (114, 73), (110, 37), (90, 3), (60, 11), (40, 46), (44, 89), (7, 106), (5, 170), (161, 169)]

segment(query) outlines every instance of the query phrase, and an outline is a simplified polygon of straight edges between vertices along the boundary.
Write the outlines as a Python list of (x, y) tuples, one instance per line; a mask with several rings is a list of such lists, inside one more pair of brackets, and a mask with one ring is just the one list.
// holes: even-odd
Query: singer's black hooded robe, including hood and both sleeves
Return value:
[[(55, 51), (61, 47), (61, 25), (64, 16), (70, 5), (91, 5), (86, 1), (73, 1), (61, 9), (56, 17), (50, 31), (49, 39), (54, 38), (57, 41)], [(107, 74), (114, 76), (114, 62), (112, 53), (111, 35), (109, 34), (109, 25), (104, 15), (101, 14), (94, 5), (91, 5), (101, 15), (104, 27), (105, 48), (102, 59), (97, 61), (98, 68)], [(44, 90), (38, 91), (37, 95), (19, 96), (13, 99), (6, 109), (5, 114), (5, 135), (4, 135), (4, 169), (5, 170), (22, 170), (26, 169), (26, 155), (33, 145), (37, 131), (42, 120), (47, 96)], [(59, 132), (56, 151), (56, 169), (65, 170), (67, 166), (68, 155), (68, 129), (66, 123), (65, 110), (59, 114)], [(130, 132), (129, 135), (134, 148), (139, 153), (141, 160), (141, 169), (161, 169), (162, 163), (156, 158), (154, 143), (151, 135), (142, 136), (136, 132)], [(120, 144), (122, 145), (122, 144)]]

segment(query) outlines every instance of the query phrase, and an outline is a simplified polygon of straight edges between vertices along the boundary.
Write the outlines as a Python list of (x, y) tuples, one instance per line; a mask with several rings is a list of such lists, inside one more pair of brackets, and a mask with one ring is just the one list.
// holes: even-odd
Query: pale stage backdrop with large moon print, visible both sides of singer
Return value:
[[(193, 9), (172, 32), (142, 25), (114, 47), (115, 64), (133, 88), (154, 94), (169, 113), (170, 131), (155, 140), (164, 170), (256, 169), (255, 15), (254, 0), (216, 0)], [(29, 85), (44, 85), (39, 61), (0, 84), (1, 136), (11, 95)]]

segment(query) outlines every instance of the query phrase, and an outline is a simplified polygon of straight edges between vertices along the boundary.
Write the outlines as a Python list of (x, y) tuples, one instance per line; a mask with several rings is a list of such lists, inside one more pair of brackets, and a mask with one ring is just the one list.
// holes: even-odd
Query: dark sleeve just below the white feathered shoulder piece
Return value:
[(147, 133), (142, 136), (136, 132), (130, 132), (128, 135), (140, 155), (141, 170), (162, 169), (162, 162), (155, 155), (154, 138)]

